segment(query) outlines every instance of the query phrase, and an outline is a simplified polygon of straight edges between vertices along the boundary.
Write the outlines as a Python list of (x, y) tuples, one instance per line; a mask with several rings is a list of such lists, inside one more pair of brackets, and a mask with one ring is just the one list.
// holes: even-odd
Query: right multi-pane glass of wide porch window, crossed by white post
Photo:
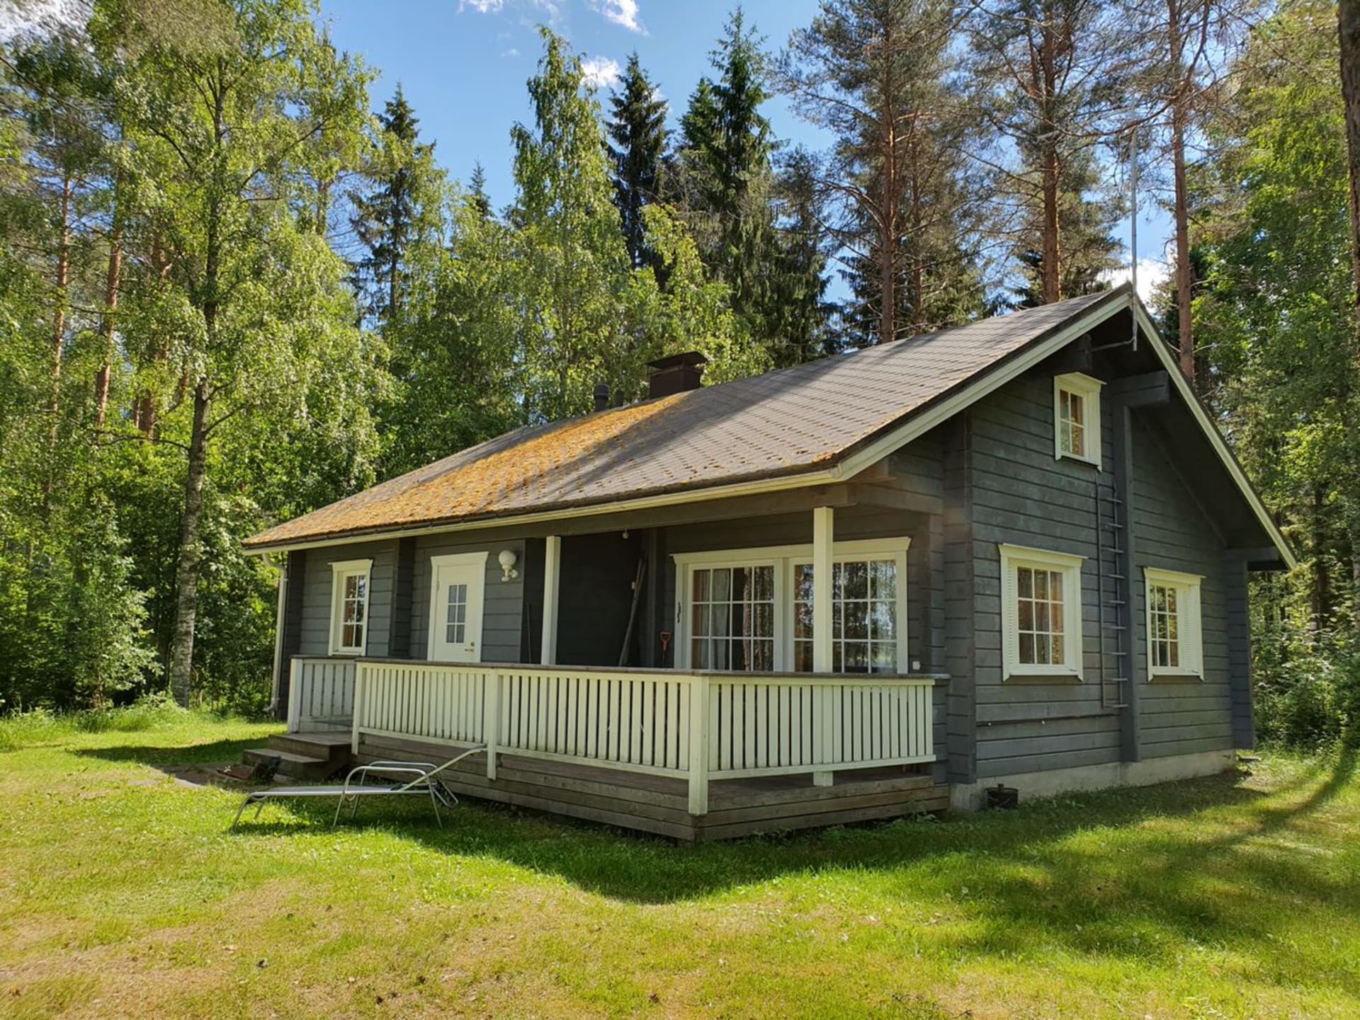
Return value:
[[(793, 568), (793, 668), (812, 671), (812, 564)], [(896, 557), (840, 560), (831, 573), (831, 668), (835, 672), (898, 670)]]

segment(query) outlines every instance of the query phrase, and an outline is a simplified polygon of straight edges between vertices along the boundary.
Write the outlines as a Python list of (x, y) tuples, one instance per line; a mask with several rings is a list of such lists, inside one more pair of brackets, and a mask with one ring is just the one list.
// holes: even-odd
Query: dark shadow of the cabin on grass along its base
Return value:
[[(1002, 871), (1042, 864), (1043, 848), (1057, 846), (1081, 830), (1130, 828), (1153, 818), (1190, 818), (1219, 807), (1250, 808), (1263, 796), (1235, 776), (1224, 776), (1036, 801), (1015, 812), (944, 822), (902, 819), (698, 846), (475, 800), (465, 800), (446, 815), (442, 830), (428, 803), (418, 797), (366, 803), (352, 824), (390, 831), (442, 853), (494, 857), (551, 873), (613, 899), (668, 903), (785, 873), (889, 872), (922, 864), (938, 871), (952, 861), (962, 861), (964, 868)], [(325, 826), (335, 815), (333, 803), (326, 809), (324, 804), (295, 801), (284, 809), (294, 819)], [(265, 819), (269, 814), (267, 808)], [(242, 819), (242, 834), (298, 831), (296, 822), (250, 824), (249, 818)]]

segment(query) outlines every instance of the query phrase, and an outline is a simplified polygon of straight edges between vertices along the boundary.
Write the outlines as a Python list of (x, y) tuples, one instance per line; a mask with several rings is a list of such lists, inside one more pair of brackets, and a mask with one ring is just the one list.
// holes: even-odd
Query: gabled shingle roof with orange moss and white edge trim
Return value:
[[(1130, 304), (1141, 307), (1123, 287), (517, 429), (269, 528), (245, 546), (268, 551), (840, 481)], [(1144, 329), (1152, 329), (1149, 321)], [(1153, 346), (1180, 379), (1164, 344)], [(1231, 460), (1202, 409), (1200, 416)], [(1269, 522), (1240, 469), (1236, 475)], [(1288, 557), (1282, 538), (1278, 543)]]

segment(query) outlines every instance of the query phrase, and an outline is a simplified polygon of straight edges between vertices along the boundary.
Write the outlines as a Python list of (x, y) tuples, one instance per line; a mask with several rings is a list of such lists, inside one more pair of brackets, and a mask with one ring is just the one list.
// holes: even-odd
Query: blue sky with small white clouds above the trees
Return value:
[[(684, 110), (732, 10), (730, 0), (321, 0), (340, 49), (362, 54), (379, 71), (375, 109), (397, 81), (420, 118), (435, 156), (466, 181), (480, 160), (492, 202), (513, 198), (510, 126), (529, 121), (525, 81), (541, 52), (539, 24), (549, 24), (582, 53), (608, 99), (611, 71), (638, 52), (642, 67), (672, 105)], [(789, 31), (808, 24), (817, 0), (748, 0), (747, 20), (778, 49)], [(767, 105), (777, 137), (823, 148), (828, 137), (797, 118), (781, 99)], [(1121, 231), (1123, 234), (1123, 231)], [(1138, 224), (1140, 291), (1160, 261), (1166, 217)]]

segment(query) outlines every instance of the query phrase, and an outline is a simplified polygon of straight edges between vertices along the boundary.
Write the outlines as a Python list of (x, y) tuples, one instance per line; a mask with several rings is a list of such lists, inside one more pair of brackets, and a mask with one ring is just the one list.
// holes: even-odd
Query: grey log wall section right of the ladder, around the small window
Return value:
[[(1144, 758), (1234, 747), (1232, 670), (1229, 663), (1229, 596), (1244, 610), (1246, 592), (1232, 584), (1236, 566), (1225, 562), (1224, 545), (1212, 519), (1172, 469), (1152, 432), (1134, 414), (1133, 526), (1134, 606), (1138, 619), (1136, 683), (1141, 683), (1138, 729)], [(1204, 679), (1148, 679), (1146, 585), (1144, 566), (1204, 575), (1200, 588)], [(1243, 579), (1244, 580), (1244, 579)], [(1239, 610), (1239, 614), (1243, 613)]]

